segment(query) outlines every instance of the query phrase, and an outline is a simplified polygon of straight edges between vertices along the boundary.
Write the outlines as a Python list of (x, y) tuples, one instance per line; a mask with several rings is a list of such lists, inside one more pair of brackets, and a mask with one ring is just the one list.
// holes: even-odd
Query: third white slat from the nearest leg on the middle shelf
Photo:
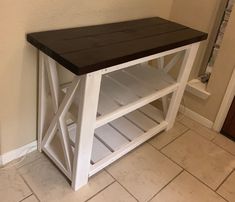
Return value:
[(109, 74), (111, 78), (126, 86), (133, 93), (139, 97), (145, 97), (155, 92), (154, 88), (147, 87), (143, 83), (140, 83), (137, 79), (131, 77), (125, 71), (115, 71)]

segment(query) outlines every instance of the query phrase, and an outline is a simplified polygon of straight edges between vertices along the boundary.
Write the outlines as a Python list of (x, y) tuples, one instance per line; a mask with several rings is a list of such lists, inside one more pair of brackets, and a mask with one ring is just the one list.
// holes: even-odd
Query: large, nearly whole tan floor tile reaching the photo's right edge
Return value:
[(162, 150), (212, 189), (235, 167), (235, 157), (193, 131), (185, 133)]

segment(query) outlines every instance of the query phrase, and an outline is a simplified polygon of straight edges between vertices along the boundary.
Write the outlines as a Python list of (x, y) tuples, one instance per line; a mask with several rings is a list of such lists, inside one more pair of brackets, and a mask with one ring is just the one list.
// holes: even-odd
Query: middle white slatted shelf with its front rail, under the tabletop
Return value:
[(178, 83), (163, 69), (139, 64), (102, 77), (96, 127), (164, 97)]

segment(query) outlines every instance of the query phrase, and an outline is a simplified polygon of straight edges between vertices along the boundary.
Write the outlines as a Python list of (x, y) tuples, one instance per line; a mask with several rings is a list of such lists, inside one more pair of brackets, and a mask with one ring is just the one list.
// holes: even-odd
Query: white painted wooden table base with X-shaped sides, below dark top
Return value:
[[(189, 73), (197, 53), (198, 45), (199, 43), (187, 45), (124, 64), (116, 65), (110, 68), (102, 69), (96, 72), (88, 73), (82, 76), (74, 75), (73, 81), (68, 86), (66, 93), (63, 93), (60, 88), (56, 62), (40, 52), (38, 103), (39, 151), (44, 151), (48, 157), (51, 158), (51, 160), (58, 166), (58, 168), (71, 180), (73, 189), (78, 190), (88, 182), (88, 178), (93, 174), (97, 173), (110, 163), (122, 157), (162, 130), (170, 129), (174, 124)], [(141, 94), (139, 95), (140, 97), (137, 96), (138, 99), (136, 100), (135, 97), (133, 97), (133, 102), (128, 103), (127, 100), (123, 106), (121, 103), (118, 103), (118, 97), (115, 98), (117, 100), (115, 102), (109, 102), (108, 99), (104, 99), (109, 102), (109, 104), (104, 104), (104, 107), (110, 107), (110, 109), (113, 108), (114, 111), (108, 114), (102, 114), (97, 118), (97, 114), (101, 113), (98, 111), (98, 102), (100, 93), (103, 93), (100, 92), (100, 89), (102, 91), (101, 80), (104, 74), (117, 70), (122, 71), (127, 67), (138, 65), (140, 63), (147, 64), (148, 61), (153, 59), (158, 59), (160, 69), (163, 69), (165, 73), (167, 73), (177, 63), (180, 55), (182, 55), (181, 51), (184, 51), (185, 54), (178, 79), (175, 83), (166, 86), (166, 88), (154, 91), (152, 94), (149, 94), (145, 97), (141, 97)], [(164, 56), (178, 52), (180, 54), (173, 57), (173, 59), (168, 64), (164, 64)], [(125, 71), (124, 73), (127, 76), (129, 74), (128, 71)], [(137, 78), (138, 75), (136, 77), (130, 74), (130, 76), (133, 77), (133, 79), (131, 79), (133, 82), (140, 79)], [(110, 79), (113, 79), (112, 74)], [(125, 89), (125, 85), (122, 85), (121, 82), (126, 81), (121, 80), (120, 82), (117, 82), (117, 85)], [(151, 89), (151, 86), (149, 86), (147, 83), (145, 84), (145, 81), (140, 81), (140, 84), (143, 86), (146, 85), (146, 87)], [(141, 92), (145, 93), (144, 90), (145, 89), (143, 89)], [(173, 93), (173, 95), (168, 105), (168, 98), (166, 96), (170, 93)], [(51, 104), (53, 106), (53, 111), (51, 113), (52, 115), (48, 115), (50, 111), (48, 103), (49, 95), (51, 97)], [(78, 98), (79, 100), (74, 101), (74, 98)], [(151, 110), (151, 106), (148, 107), (147, 105), (159, 98), (163, 98), (165, 118), (156, 116), (156, 113), (153, 113)], [(142, 108), (143, 106), (146, 107)], [(71, 107), (73, 108), (72, 114), (76, 118), (76, 127), (74, 127), (76, 128), (76, 137), (74, 137), (75, 141), (73, 143), (71, 143), (71, 139), (69, 137), (70, 126), (68, 126), (66, 123), (66, 114)], [(99, 110), (102, 111), (103, 108), (100, 107), (101, 106), (99, 106)], [(76, 111), (74, 111), (74, 109)], [(134, 112), (135, 110), (137, 111)], [(134, 113), (133, 116), (131, 115), (132, 112)], [(131, 125), (131, 123), (135, 122), (134, 119), (135, 116), (137, 116), (135, 115), (136, 113), (140, 113), (141, 117), (143, 117), (143, 120), (153, 120), (149, 121), (149, 127), (151, 128), (147, 130), (144, 128), (141, 129), (141, 123), (139, 123), (139, 125), (138, 123), (135, 123), (135, 125), (137, 124), (136, 126)], [(120, 117), (123, 118), (119, 120)], [(115, 122), (115, 120), (117, 121)], [(153, 127), (150, 124), (152, 122), (156, 123)], [(116, 126), (118, 126), (118, 124), (124, 124), (129, 128), (119, 131), (120, 133), (125, 133), (125, 131), (133, 129), (135, 131), (143, 131), (143, 134), (140, 135), (138, 132), (136, 137), (135, 135), (126, 137), (128, 141), (124, 141), (125, 144), (123, 143), (123, 145), (120, 148), (118, 147), (117, 150), (115, 150), (116, 147), (114, 147), (112, 152), (106, 151), (106, 149), (101, 149), (103, 152), (107, 152), (108, 155), (98, 162), (91, 164), (92, 145), (95, 129), (102, 127), (105, 124), (108, 124), (107, 126), (114, 128), (115, 124)], [(51, 146), (51, 143), (54, 141), (55, 137), (58, 139), (56, 144), (61, 145), (62, 151), (58, 151), (55, 146)], [(99, 139), (100, 137), (102, 136), (97, 134), (95, 140), (99, 144), (99, 141), (102, 141), (102, 139)], [(61, 161), (59, 158), (59, 152), (62, 152), (62, 156), (64, 156), (63, 161)]]

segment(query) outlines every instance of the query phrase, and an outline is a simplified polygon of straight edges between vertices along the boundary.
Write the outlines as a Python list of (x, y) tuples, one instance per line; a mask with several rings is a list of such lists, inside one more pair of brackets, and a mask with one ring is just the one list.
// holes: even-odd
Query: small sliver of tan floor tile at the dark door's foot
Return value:
[(218, 134), (213, 142), (222, 147), (225, 151), (235, 155), (235, 142), (228, 139), (227, 137)]

